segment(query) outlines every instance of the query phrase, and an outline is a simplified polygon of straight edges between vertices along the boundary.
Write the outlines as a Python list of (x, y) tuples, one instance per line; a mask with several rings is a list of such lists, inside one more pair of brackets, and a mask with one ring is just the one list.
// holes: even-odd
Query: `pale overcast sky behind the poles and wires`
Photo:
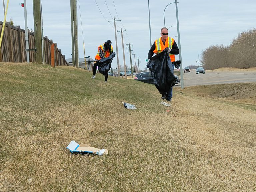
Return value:
[[(4, 1), (6, 7), (7, 0)], [(24, 29), (24, 9), (19, 5), (21, 2), (23, 0), (9, 2), (7, 21), (12, 18), (16, 25)], [(126, 32), (123, 32), (126, 65), (130, 66), (130, 57), (126, 51), (126, 44), (130, 42), (133, 44), (135, 56), (140, 57), (140, 69), (145, 67), (145, 59), (150, 49), (148, 1), (96, 0), (96, 2), (106, 20), (111, 21), (113, 17), (121, 20), (122, 23), (116, 22), (118, 31), (121, 28), (126, 29)], [(94, 58), (97, 54), (97, 47), (108, 39), (112, 41), (114, 52), (116, 52), (114, 23), (110, 22), (112, 24), (110, 25), (104, 19), (96, 2), (95, 0), (79, 0), (77, 3), (80, 58), (84, 57), (83, 41), (86, 56)], [(164, 27), (164, 8), (172, 2), (175, 0), (149, 0), (152, 43), (160, 37), (160, 29)], [(183, 67), (197, 65), (198, 53), (200, 57), (207, 47), (217, 44), (230, 45), (238, 33), (255, 28), (256, 25), (255, 0), (178, 0), (178, 2), (180, 45), (178, 38), (174, 37), (177, 36), (177, 27), (169, 29), (169, 36), (174, 37), (181, 48)], [(57, 43), (66, 58), (72, 58), (70, 0), (43, 0), (42, 12), (44, 36), (48, 36)], [(34, 29), (32, 0), (27, 0), (27, 17), (28, 28)], [(0, 2), (0, 20), (4, 20), (2, 1)], [(175, 3), (166, 8), (165, 23), (167, 28), (177, 25)], [(117, 32), (117, 42), (119, 64), (123, 66), (120, 32)], [(179, 56), (175, 58), (178, 60)], [(132, 55), (132, 64), (134, 64), (134, 55)], [(113, 60), (112, 67), (117, 67), (117, 57)]]

